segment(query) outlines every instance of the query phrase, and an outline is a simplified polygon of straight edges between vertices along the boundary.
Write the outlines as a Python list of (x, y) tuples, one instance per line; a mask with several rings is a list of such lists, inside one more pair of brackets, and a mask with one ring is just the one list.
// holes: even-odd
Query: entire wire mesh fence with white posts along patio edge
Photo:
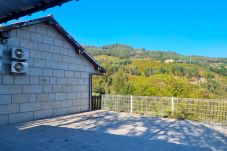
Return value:
[(227, 100), (102, 95), (102, 109), (227, 125)]

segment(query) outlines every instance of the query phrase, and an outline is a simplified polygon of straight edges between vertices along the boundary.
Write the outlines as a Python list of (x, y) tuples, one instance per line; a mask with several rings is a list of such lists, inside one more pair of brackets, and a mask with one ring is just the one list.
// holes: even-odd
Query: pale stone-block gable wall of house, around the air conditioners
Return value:
[[(0, 72), (0, 125), (87, 111), (93, 65), (53, 27), (40, 23), (7, 32)], [(13, 75), (10, 48), (29, 49), (29, 72)]]

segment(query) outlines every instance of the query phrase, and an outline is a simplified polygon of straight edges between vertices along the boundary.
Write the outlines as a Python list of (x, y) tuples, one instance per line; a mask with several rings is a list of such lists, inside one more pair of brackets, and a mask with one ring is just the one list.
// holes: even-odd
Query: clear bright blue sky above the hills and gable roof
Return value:
[(20, 20), (47, 14), (84, 45), (227, 57), (227, 0), (80, 0)]

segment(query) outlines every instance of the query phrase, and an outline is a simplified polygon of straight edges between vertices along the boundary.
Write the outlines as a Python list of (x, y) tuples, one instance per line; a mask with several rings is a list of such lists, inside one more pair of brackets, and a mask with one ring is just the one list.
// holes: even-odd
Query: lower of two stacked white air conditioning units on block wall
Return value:
[(28, 72), (28, 63), (26, 62), (11, 62), (11, 72), (12, 73), (27, 73)]

